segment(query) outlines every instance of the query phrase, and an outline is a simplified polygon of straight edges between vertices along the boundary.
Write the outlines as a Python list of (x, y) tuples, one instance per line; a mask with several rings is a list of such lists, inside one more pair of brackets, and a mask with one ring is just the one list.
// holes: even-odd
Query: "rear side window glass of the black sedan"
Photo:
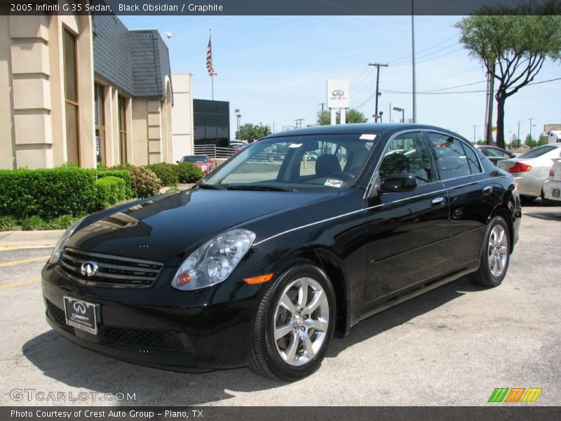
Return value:
[[(449, 135), (429, 133), (429, 137), (436, 152), (438, 171), (442, 180), (471, 175), (472, 170), (469, 162), (475, 160), (475, 163), (478, 163), (473, 151), (466, 147), (468, 149), (468, 152), (466, 152), (461, 142)], [(469, 154), (470, 152), (471, 154)], [(480, 170), (473, 166), (473, 173), (479, 172)]]

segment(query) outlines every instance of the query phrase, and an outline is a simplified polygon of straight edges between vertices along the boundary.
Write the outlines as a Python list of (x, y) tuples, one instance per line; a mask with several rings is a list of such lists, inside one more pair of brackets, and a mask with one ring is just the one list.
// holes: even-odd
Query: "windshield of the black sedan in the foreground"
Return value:
[(259, 140), (205, 179), (201, 188), (344, 189), (353, 185), (377, 135), (330, 134)]

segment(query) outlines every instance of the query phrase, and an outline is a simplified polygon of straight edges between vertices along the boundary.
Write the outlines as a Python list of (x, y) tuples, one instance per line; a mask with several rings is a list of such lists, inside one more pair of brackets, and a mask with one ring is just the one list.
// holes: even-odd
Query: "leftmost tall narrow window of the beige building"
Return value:
[(67, 161), (80, 163), (78, 77), (76, 74), (76, 36), (65, 29), (65, 105)]

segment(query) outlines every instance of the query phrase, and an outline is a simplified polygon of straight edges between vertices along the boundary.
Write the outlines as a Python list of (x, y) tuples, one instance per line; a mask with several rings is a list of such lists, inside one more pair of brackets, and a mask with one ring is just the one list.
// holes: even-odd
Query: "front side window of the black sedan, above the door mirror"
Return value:
[(381, 179), (394, 174), (413, 175), (419, 185), (434, 181), (421, 133), (405, 133), (393, 139), (381, 161), (379, 173)]

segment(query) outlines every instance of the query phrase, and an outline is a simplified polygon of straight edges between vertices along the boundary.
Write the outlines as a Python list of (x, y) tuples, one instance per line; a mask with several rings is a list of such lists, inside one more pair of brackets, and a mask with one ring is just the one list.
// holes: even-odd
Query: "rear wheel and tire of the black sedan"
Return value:
[(485, 232), (477, 272), (468, 275), (471, 283), (492, 288), (501, 285), (511, 257), (511, 232), (501, 216), (495, 216)]

